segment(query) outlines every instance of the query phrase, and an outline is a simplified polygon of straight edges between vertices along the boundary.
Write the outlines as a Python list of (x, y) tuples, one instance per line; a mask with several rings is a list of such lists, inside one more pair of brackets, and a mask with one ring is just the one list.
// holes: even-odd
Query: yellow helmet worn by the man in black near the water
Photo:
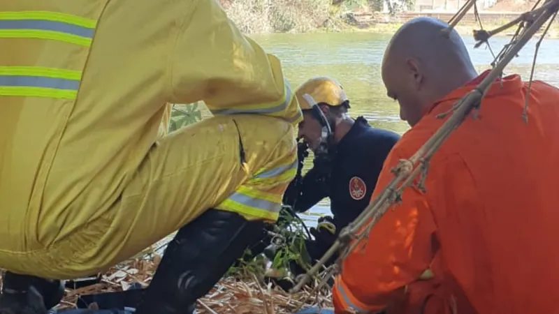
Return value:
[(300, 84), (295, 91), (301, 110), (309, 110), (319, 103), (331, 106), (342, 105), (347, 101), (342, 85), (331, 77), (312, 77)]

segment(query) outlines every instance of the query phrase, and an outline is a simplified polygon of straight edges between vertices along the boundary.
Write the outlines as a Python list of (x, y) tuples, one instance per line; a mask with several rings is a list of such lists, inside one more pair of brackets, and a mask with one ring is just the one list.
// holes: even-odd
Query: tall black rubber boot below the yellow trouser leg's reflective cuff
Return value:
[(261, 220), (210, 209), (180, 228), (168, 245), (136, 314), (184, 314), (261, 235)]

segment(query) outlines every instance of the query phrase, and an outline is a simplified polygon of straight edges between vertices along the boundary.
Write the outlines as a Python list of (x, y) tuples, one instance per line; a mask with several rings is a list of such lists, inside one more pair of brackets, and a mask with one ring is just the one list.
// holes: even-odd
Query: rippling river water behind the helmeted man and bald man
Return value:
[[(386, 97), (380, 76), (380, 65), (390, 35), (377, 33), (274, 33), (254, 36), (268, 52), (282, 60), (286, 77), (296, 86), (314, 75), (335, 77), (344, 86), (351, 102), (350, 115), (364, 116), (372, 126), (404, 133), (409, 127), (400, 121), (398, 103)], [(485, 46), (474, 49), (472, 36), (463, 36), (474, 65), (479, 71), (491, 67), (490, 50)], [(491, 38), (491, 49), (497, 54), (509, 43), (509, 37)], [(507, 73), (530, 77), (537, 40), (525, 45)], [(535, 79), (559, 87), (559, 40), (546, 39), (539, 47)], [(444, 68), (441, 68), (444, 71)], [(505, 73), (505, 74), (507, 74)], [(449, 73), (449, 75), (452, 75)], [(305, 170), (312, 159), (305, 160)], [(329, 214), (328, 199), (313, 207), (305, 220), (313, 224), (316, 216)]]

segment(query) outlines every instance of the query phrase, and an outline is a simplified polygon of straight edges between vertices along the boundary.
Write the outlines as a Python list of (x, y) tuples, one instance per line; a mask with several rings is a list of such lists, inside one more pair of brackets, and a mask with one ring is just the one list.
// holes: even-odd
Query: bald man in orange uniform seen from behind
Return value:
[[(477, 75), (455, 31), (442, 36), (445, 27), (414, 19), (386, 50), (384, 84), (412, 128), (387, 158), (373, 198), (398, 160), (448, 119), (437, 115), (487, 75)], [(519, 75), (493, 83), (479, 115), (430, 160), (426, 193), (407, 188), (367, 246), (344, 260), (336, 313), (559, 313), (559, 90), (536, 81), (527, 91)], [(421, 280), (426, 269), (432, 276)]]

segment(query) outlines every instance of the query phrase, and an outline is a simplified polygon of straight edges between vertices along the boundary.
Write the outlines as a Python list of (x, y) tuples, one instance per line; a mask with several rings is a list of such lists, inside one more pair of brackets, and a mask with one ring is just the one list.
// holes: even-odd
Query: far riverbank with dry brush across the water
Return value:
[[(342, 6), (332, 6), (331, 0), (220, 0), (226, 13), (243, 33), (309, 33), (309, 32), (370, 32), (394, 33), (403, 23), (419, 13), (391, 16), (383, 13), (354, 13)], [(428, 15), (429, 13), (425, 13)], [(481, 14), (484, 29), (495, 29), (510, 22), (516, 13), (487, 12)], [(448, 20), (451, 13), (431, 13)], [(465, 16), (456, 30), (471, 36), (480, 29), (472, 13)], [(515, 27), (497, 36), (510, 36)], [(559, 22), (553, 23), (547, 38), (559, 38)]]

